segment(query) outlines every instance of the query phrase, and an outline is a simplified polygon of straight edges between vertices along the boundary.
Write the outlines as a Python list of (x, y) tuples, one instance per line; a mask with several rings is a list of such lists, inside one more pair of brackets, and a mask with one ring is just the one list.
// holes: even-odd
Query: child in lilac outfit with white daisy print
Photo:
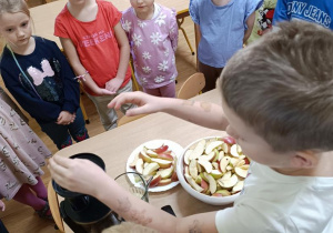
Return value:
[(135, 78), (145, 93), (175, 98), (175, 11), (154, 0), (131, 0), (131, 4), (122, 14), (122, 27), (130, 41)]

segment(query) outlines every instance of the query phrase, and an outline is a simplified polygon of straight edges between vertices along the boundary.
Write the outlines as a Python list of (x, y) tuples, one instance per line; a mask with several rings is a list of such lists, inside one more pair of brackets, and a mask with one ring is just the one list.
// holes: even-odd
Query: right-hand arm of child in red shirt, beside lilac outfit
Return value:
[(117, 77), (111, 79), (105, 85), (105, 88), (111, 92), (117, 92), (123, 83), (130, 61), (130, 43), (128, 40), (128, 36), (122, 29), (120, 22), (118, 22), (114, 27), (114, 34), (120, 49), (120, 57)]

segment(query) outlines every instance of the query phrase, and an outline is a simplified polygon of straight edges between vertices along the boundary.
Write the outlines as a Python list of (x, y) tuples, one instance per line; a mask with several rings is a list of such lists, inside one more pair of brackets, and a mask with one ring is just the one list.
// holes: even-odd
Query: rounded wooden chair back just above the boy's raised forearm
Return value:
[(180, 88), (176, 98), (188, 100), (200, 94), (204, 88), (205, 81), (203, 73), (196, 72), (192, 74)]

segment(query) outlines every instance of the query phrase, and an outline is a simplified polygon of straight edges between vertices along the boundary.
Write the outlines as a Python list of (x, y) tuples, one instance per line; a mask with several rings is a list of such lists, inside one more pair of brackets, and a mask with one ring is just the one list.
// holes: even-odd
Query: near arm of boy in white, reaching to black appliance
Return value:
[[(54, 155), (49, 161), (49, 169), (59, 185), (95, 196), (127, 221), (160, 232), (218, 232), (216, 212), (175, 217), (131, 195), (102, 169), (88, 160), (71, 160)], [(103, 189), (95, 189), (97, 186)]]

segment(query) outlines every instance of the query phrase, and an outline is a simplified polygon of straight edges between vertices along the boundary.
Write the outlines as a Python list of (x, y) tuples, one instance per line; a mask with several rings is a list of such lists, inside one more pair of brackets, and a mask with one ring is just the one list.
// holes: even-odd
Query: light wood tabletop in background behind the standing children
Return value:
[[(130, 0), (107, 0), (114, 4), (118, 10), (123, 11), (131, 7)], [(61, 49), (61, 43), (59, 38), (53, 36), (54, 32), (54, 21), (57, 16), (64, 8), (67, 0), (52, 1), (47, 4), (41, 4), (30, 9), (31, 18), (34, 24), (34, 34), (53, 40), (57, 42), (58, 47)], [(190, 0), (157, 0), (157, 3), (165, 6), (171, 9), (175, 9), (175, 11), (181, 17), (186, 17), (189, 14), (184, 14), (188, 12)]]

